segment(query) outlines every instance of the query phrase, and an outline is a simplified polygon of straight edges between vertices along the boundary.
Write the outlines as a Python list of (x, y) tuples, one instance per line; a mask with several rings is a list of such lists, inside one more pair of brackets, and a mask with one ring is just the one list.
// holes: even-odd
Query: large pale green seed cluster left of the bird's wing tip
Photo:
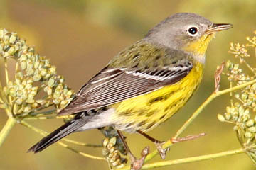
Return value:
[(49, 106), (60, 111), (72, 100), (74, 91), (64, 84), (56, 68), (16, 33), (0, 29), (1, 58), (16, 60), (15, 79), (3, 88), (14, 114), (34, 113)]

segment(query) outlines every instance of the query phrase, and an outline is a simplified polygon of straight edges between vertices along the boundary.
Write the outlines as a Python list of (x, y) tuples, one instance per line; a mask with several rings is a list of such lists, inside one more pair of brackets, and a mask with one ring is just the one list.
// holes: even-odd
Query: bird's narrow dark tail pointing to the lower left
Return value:
[(64, 125), (60, 126), (60, 128), (51, 132), (46, 137), (43, 137), (41, 141), (36, 143), (36, 145), (33, 145), (33, 147), (31, 147), (30, 149), (28, 149), (28, 152), (41, 152), (43, 149), (46, 149), (46, 147), (52, 145), (54, 142), (57, 142), (63, 137), (69, 135), (70, 133), (75, 132), (82, 125), (85, 125), (85, 123), (85, 121), (82, 121), (82, 118), (74, 118), (73, 120), (70, 120), (68, 123), (65, 123)]

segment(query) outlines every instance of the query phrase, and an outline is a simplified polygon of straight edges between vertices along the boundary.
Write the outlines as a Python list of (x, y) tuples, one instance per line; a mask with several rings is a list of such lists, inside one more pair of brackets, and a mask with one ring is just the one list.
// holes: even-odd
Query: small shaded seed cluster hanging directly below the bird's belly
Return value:
[(112, 127), (102, 128), (105, 140), (103, 140), (102, 154), (109, 162), (110, 166), (115, 168), (121, 168), (127, 163), (127, 159), (123, 158), (122, 155), (127, 155), (127, 151), (124, 149), (122, 140), (118, 137), (117, 131)]

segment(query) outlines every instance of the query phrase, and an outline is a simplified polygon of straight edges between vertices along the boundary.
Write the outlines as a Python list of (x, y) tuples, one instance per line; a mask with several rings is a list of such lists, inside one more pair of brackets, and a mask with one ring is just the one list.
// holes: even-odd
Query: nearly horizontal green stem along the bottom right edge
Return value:
[[(224, 157), (224, 156), (229, 156), (229, 155), (233, 155), (233, 154), (241, 154), (244, 153), (245, 150), (240, 148), (240, 149), (233, 149), (230, 151), (226, 151), (226, 152), (220, 152), (220, 153), (216, 153), (216, 154), (206, 154), (206, 155), (201, 155), (198, 157), (188, 157), (188, 158), (183, 158), (183, 159), (175, 159), (175, 160), (170, 160), (170, 161), (163, 161), (163, 162), (154, 162), (151, 164), (145, 164), (144, 166), (142, 166), (142, 169), (153, 169), (156, 167), (163, 167), (163, 166), (170, 166), (170, 165), (175, 165), (175, 164), (185, 164), (185, 163), (189, 163), (189, 162), (198, 162), (198, 161), (203, 161), (203, 160), (207, 160), (207, 159), (214, 159), (214, 158), (218, 158), (218, 157)], [(129, 170), (130, 167), (129, 166), (125, 166), (124, 168), (118, 169), (118, 170)]]

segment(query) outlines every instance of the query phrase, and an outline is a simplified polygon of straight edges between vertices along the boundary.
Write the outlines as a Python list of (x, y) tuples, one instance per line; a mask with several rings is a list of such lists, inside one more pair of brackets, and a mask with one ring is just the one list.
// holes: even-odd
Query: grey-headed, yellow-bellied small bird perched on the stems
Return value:
[[(195, 13), (167, 17), (87, 81), (58, 113), (75, 114), (73, 120), (28, 151), (41, 152), (70, 133), (107, 126), (117, 130), (128, 152), (122, 131), (139, 132), (159, 144), (145, 132), (171, 118), (193, 96), (201, 84), (210, 40), (229, 28), (233, 25), (212, 23)], [(139, 160), (129, 155), (134, 164)]]

